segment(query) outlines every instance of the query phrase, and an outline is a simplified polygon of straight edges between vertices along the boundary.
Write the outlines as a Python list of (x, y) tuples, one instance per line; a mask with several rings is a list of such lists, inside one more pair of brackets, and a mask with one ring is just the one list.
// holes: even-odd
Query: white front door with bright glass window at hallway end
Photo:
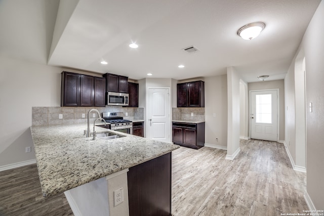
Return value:
[(253, 91), (251, 101), (251, 139), (277, 141), (278, 90)]

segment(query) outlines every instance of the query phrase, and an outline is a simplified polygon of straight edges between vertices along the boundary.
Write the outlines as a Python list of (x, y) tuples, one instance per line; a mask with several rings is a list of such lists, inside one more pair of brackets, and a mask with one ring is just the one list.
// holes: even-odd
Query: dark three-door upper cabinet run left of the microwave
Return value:
[(61, 106), (105, 106), (106, 79), (62, 72)]

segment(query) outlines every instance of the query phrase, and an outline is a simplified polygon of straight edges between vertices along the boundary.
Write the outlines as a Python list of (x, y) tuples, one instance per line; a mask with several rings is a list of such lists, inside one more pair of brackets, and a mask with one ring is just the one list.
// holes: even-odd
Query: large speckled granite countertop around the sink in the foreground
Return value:
[(86, 128), (84, 124), (30, 127), (43, 196), (62, 193), (179, 148), (98, 126), (96, 132), (126, 137), (92, 140), (83, 135)]

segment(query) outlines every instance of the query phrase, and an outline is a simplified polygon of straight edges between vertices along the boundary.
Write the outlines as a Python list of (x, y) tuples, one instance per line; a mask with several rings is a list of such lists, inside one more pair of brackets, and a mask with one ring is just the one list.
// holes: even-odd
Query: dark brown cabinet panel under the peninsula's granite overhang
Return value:
[(171, 152), (130, 167), (127, 172), (129, 215), (170, 216)]

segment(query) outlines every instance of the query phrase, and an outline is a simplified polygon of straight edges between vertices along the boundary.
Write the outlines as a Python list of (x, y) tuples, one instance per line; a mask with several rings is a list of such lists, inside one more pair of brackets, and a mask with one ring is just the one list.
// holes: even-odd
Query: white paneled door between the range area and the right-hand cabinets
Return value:
[(148, 139), (170, 143), (169, 88), (148, 89)]

